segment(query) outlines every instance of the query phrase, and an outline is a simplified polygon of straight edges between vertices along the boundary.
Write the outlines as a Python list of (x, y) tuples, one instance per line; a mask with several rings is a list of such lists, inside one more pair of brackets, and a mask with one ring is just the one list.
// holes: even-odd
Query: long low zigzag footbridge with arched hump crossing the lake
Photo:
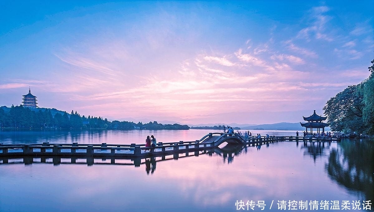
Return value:
[(237, 144), (243, 146), (257, 146), (281, 141), (303, 141), (303, 142), (338, 142), (340, 138), (309, 138), (293, 136), (270, 136), (261, 138), (239, 136), (236, 133), (209, 133), (200, 140), (179, 141), (157, 143), (156, 147), (145, 147), (145, 144), (1, 144), (1, 157), (17, 156), (67, 156), (67, 157), (114, 157), (114, 158), (148, 158), (165, 156), (169, 154), (179, 154), (206, 151), (223, 143)]

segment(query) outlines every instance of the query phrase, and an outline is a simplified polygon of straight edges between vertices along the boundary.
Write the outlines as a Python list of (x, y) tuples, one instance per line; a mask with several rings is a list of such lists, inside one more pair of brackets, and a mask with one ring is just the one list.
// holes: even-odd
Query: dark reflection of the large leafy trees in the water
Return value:
[[(361, 200), (374, 202), (373, 140), (343, 139), (329, 153), (325, 164), (328, 176), (350, 192), (360, 191)], [(372, 207), (372, 211), (374, 208)]]

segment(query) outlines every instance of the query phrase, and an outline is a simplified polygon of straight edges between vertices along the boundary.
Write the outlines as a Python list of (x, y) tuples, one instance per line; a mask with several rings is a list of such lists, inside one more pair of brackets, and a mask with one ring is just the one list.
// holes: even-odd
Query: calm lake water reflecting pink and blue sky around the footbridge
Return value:
[[(209, 132), (220, 131), (0, 131), (0, 143), (141, 144), (147, 135), (155, 135), (158, 142), (195, 141)], [(295, 135), (296, 131), (251, 132)], [(71, 164), (70, 159), (62, 158), (58, 165), (53, 165), (53, 159), (31, 161), (25, 165), (22, 158), (9, 159), (4, 164), (0, 157), (1, 212), (228, 212), (247, 211), (248, 201), (254, 202), (254, 211), (261, 211), (258, 201), (264, 202), (263, 211), (281, 211), (283, 205), (288, 211), (292, 209), (289, 203), (301, 211), (300, 201), (307, 201), (303, 211), (312, 211), (310, 201), (315, 200), (318, 210), (321, 201), (327, 200), (328, 209), (333, 203), (342, 209), (343, 201), (349, 201), (349, 211), (374, 211), (373, 204), (371, 210), (363, 210), (362, 205), (363, 201), (374, 202), (370, 140), (345, 139), (321, 146), (279, 142), (261, 148), (223, 144), (212, 154), (201, 151), (198, 156), (179, 154), (178, 160), (173, 155), (165, 160), (142, 159), (140, 167), (120, 159), (114, 165), (110, 159), (94, 159), (90, 166), (86, 159)], [(357, 201), (360, 209), (355, 206)]]

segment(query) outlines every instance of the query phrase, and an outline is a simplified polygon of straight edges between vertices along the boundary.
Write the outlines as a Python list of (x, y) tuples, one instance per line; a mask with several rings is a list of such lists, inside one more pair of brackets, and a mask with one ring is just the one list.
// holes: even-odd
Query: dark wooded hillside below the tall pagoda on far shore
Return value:
[(0, 107), (0, 127), (3, 128), (64, 128), (64, 129), (149, 129), (186, 130), (188, 125), (159, 124), (156, 121), (141, 122), (108, 121), (102, 117), (80, 116), (77, 111), (59, 111), (55, 108), (28, 108), (22, 105)]

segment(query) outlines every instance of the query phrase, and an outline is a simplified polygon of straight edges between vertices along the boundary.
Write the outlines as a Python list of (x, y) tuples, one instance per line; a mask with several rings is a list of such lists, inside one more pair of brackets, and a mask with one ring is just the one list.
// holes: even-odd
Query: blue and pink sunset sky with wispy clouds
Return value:
[(0, 105), (300, 122), (374, 58), (374, 1), (0, 1)]

